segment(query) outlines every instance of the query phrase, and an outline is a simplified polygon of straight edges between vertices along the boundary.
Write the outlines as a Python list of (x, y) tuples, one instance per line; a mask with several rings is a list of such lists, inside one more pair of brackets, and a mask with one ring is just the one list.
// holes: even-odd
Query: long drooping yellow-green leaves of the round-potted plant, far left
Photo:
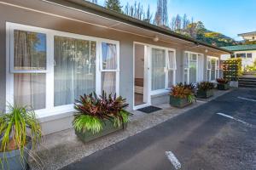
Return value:
[(20, 160), (24, 160), (24, 151), (28, 150), (26, 145), (32, 142), (34, 148), (42, 137), (38, 118), (31, 107), (9, 105), (8, 110), (8, 113), (0, 112), (0, 152), (4, 156), (0, 159), (2, 166), (3, 161), (7, 161), (6, 152), (20, 150)]

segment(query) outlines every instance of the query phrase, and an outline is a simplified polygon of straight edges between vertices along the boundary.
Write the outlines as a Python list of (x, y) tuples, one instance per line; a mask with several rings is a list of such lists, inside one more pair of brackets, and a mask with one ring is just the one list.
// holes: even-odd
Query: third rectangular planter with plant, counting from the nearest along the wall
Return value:
[(213, 82), (199, 82), (197, 83), (196, 97), (199, 98), (210, 98), (213, 96)]

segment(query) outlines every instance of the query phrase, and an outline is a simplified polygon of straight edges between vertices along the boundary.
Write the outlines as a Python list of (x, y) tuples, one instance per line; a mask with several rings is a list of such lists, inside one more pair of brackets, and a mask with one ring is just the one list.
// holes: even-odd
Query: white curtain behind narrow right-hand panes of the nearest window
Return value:
[(107, 94), (116, 93), (116, 71), (117, 71), (116, 45), (103, 42), (102, 43), (102, 90), (104, 90)]

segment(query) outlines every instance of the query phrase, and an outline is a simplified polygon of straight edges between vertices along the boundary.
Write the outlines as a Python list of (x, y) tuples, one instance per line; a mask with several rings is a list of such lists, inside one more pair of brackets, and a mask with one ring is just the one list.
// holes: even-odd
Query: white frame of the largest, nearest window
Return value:
[[(16, 71), (14, 70), (14, 30), (32, 31), (46, 34), (46, 70), (45, 71)], [(117, 48), (117, 70), (116, 71), (116, 94), (119, 95), (119, 41), (88, 37), (84, 35), (55, 31), (45, 28), (26, 26), (16, 23), (6, 23), (6, 105), (14, 105), (14, 74), (15, 73), (45, 73), (46, 74), (46, 101), (45, 109), (35, 111), (39, 118), (55, 116), (61, 113), (74, 111), (72, 105), (54, 106), (54, 37), (71, 37), (86, 41), (96, 42), (96, 94), (101, 94), (102, 70), (100, 68), (102, 59), (102, 42), (112, 43)], [(105, 70), (107, 71), (107, 70)], [(8, 107), (6, 107), (8, 111)]]

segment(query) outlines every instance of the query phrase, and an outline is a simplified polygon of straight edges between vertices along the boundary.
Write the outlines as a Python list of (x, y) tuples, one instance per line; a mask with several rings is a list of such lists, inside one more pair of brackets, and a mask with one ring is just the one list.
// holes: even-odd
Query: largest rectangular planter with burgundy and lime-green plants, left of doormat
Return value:
[(83, 142), (97, 139), (109, 133), (125, 129), (131, 113), (125, 111), (126, 99), (121, 96), (89, 94), (80, 96), (74, 108), (78, 111), (73, 119), (75, 133)]

